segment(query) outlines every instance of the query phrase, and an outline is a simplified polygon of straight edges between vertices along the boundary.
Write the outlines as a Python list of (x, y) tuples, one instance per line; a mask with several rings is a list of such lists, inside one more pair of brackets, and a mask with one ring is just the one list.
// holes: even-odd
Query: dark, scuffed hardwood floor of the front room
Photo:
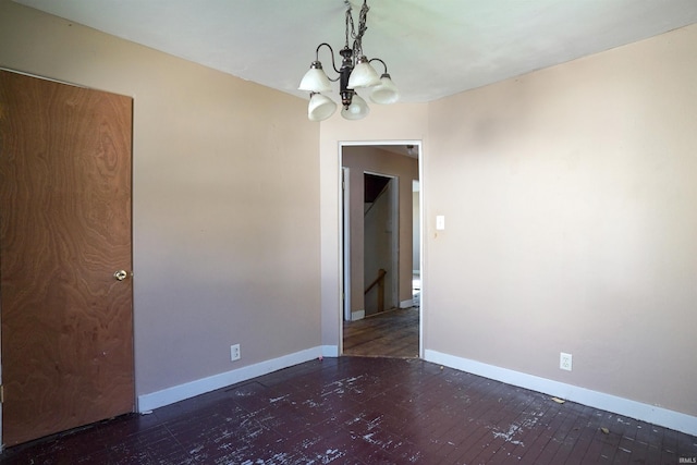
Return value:
[(0, 463), (673, 465), (695, 457), (696, 437), (644, 421), (421, 359), (340, 357), (11, 448)]

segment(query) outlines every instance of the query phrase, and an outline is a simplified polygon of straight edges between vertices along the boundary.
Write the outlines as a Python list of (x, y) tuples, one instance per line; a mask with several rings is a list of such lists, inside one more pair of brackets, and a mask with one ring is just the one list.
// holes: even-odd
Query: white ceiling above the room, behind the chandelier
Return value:
[[(338, 51), (345, 41), (343, 0), (15, 1), (297, 96), (317, 46)], [(362, 0), (351, 3), (357, 26)], [(435, 100), (697, 23), (697, 0), (368, 4), (364, 51), (387, 62), (402, 101)], [(331, 70), (326, 50), (320, 61)]]

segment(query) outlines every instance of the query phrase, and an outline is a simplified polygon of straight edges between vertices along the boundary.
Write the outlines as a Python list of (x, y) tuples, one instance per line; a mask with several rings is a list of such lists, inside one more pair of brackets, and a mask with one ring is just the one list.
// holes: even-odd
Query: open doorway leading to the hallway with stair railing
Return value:
[(419, 152), (418, 142), (340, 145), (342, 355), (423, 354), (421, 308), (413, 294), (413, 273), (421, 268), (420, 197), (412, 188)]

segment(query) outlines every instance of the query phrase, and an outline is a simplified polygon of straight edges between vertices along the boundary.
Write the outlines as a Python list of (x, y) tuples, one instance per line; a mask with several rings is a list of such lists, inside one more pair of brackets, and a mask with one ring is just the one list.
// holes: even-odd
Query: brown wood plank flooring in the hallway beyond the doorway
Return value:
[(344, 355), (418, 357), (418, 307), (344, 321)]

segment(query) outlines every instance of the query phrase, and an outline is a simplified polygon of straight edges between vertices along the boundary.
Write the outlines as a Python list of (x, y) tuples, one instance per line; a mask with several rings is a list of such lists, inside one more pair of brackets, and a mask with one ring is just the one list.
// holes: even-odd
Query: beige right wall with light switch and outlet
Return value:
[(697, 415), (695, 44), (429, 106), (427, 348)]

